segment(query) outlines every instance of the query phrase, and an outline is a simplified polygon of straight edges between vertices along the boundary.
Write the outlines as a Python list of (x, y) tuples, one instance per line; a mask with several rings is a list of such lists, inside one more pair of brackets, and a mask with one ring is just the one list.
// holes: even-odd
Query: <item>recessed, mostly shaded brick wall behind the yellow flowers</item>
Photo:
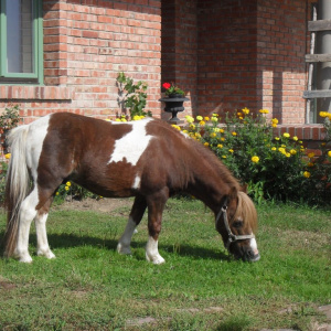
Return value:
[(162, 76), (172, 74), (191, 87), (194, 114), (268, 108), (279, 122), (303, 124), (310, 2), (167, 1), (168, 10), (175, 12), (168, 25), (175, 38), (167, 36), (162, 53), (169, 51), (171, 70), (164, 65)]

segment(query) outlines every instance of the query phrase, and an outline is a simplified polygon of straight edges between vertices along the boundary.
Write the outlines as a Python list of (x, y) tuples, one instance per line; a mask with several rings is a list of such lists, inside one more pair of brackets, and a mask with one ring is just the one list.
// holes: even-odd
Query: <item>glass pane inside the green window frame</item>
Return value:
[(8, 73), (34, 73), (33, 0), (6, 0)]

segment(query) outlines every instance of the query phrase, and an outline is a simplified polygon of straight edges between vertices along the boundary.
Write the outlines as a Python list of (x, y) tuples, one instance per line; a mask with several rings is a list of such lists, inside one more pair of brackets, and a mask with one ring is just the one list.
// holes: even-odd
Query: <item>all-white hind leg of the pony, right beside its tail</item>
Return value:
[(17, 237), (17, 247), (14, 249), (14, 257), (20, 261), (31, 263), (32, 258), (29, 254), (29, 233), (31, 222), (36, 215), (36, 205), (39, 203), (36, 188), (23, 200), (19, 212), (19, 228)]

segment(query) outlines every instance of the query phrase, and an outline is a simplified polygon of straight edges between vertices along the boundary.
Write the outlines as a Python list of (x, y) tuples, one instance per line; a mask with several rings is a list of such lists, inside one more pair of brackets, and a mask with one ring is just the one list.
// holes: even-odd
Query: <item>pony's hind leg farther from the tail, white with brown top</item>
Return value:
[(49, 216), (52, 197), (39, 209), (35, 216), (35, 232), (36, 232), (36, 255), (45, 256), (46, 258), (55, 258), (55, 255), (50, 249), (47, 233), (46, 233), (46, 221)]

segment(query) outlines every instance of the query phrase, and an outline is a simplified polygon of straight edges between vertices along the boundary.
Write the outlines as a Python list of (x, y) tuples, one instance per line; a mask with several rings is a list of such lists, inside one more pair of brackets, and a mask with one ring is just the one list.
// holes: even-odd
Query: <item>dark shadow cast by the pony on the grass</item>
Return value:
[[(0, 233), (0, 238), (3, 238), (4, 233)], [(92, 236), (77, 236), (74, 234), (49, 234), (49, 243), (51, 247), (54, 248), (73, 248), (73, 247), (81, 247), (81, 246), (95, 246), (95, 247), (102, 247), (107, 249), (116, 250), (117, 247), (117, 239), (102, 239), (98, 237), (92, 237)], [(162, 238), (161, 238), (162, 241)], [(35, 234), (30, 235), (30, 243), (33, 246), (36, 246), (36, 236)], [(220, 245), (222, 245), (222, 241), (220, 242)], [(145, 249), (146, 242), (135, 242), (132, 241), (131, 247), (135, 248), (143, 248)], [(191, 245), (159, 245), (159, 249), (166, 250), (170, 254), (177, 254), (179, 256), (191, 256), (193, 258), (210, 258), (210, 259), (216, 259), (216, 260), (231, 260), (231, 257), (224, 253), (217, 252), (216, 247), (215, 249), (209, 249), (197, 246), (191, 246)], [(1, 256), (3, 256), (3, 249), (1, 249)], [(139, 256), (137, 256), (139, 258)], [(139, 258), (140, 259), (140, 258)], [(145, 259), (145, 257), (141, 259)]]

